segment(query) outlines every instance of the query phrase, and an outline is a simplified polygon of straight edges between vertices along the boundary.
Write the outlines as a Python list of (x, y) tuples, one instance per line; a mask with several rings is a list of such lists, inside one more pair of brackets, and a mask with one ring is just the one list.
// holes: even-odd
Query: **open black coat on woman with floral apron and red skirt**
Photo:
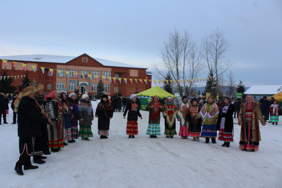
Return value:
[(220, 129), (221, 118), (225, 117), (224, 132), (232, 133), (233, 132), (233, 113), (235, 111), (235, 106), (230, 103), (227, 113), (222, 113), (223, 107), (224, 107), (224, 104), (221, 105), (220, 110), (219, 110), (219, 115), (218, 115), (217, 123), (216, 123), (216, 130)]

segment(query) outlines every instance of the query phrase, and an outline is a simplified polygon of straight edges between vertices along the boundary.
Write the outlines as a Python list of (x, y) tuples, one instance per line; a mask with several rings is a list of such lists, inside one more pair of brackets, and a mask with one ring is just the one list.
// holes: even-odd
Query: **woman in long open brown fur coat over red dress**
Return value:
[(253, 96), (246, 96), (246, 103), (241, 103), (238, 124), (241, 125), (240, 146), (243, 151), (259, 150), (259, 121), (265, 126), (265, 120), (259, 108), (259, 102), (253, 102)]

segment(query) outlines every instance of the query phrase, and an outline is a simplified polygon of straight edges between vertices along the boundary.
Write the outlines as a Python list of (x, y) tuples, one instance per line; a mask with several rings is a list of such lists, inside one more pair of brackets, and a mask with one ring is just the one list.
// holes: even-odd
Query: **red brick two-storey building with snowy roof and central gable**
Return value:
[[(82, 54), (78, 57), (72, 56), (59, 56), (59, 55), (14, 55), (14, 56), (0, 56), (0, 59), (8, 60), (6, 69), (9, 76), (24, 75), (26, 71), (23, 70), (22, 64), (27, 64), (26, 70), (29, 73), (29, 79), (36, 80), (38, 83), (44, 84), (44, 92), (50, 93), (57, 88), (66, 88), (67, 94), (73, 92), (75, 89), (79, 91), (85, 91), (85, 93), (96, 93), (97, 80), (95, 76), (101, 79), (101, 76), (105, 77), (105, 90), (106, 94), (122, 94), (131, 95), (137, 91), (141, 92), (151, 88), (152, 74), (146, 73), (144, 67), (138, 67), (134, 65), (119, 63), (115, 61), (108, 61), (99, 58), (92, 58), (87, 54)], [(11, 61), (18, 62), (15, 67)], [(36, 72), (32, 70), (30, 65), (36, 66)], [(44, 74), (40, 67), (45, 67)], [(4, 64), (2, 63), (2, 69)], [(51, 69), (61, 70), (61, 75), (54, 70), (53, 75), (49, 71)], [(66, 75), (66, 71), (69, 71), (69, 77)], [(74, 73), (83, 73), (85, 78), (81, 74), (75, 78)], [(88, 74), (92, 75), (92, 80), (88, 78)], [(116, 78), (116, 83), (110, 82), (109, 77)], [(121, 83), (119, 81), (121, 79)], [(127, 78), (127, 84), (124, 78)], [(131, 84), (129, 79), (133, 79)], [(138, 84), (134, 79), (138, 79)], [(143, 80), (141, 84), (140, 80)], [(148, 80), (148, 85), (144, 82), (144, 79)], [(14, 84), (22, 83), (21, 79), (14, 79)]]

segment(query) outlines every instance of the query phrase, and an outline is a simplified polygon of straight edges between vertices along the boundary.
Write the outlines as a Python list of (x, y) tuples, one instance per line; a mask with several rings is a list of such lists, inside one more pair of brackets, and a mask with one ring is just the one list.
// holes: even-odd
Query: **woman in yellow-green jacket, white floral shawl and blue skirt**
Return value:
[(205, 143), (209, 143), (209, 139), (211, 138), (211, 142), (213, 144), (216, 143), (215, 138), (217, 137), (216, 133), (216, 121), (219, 113), (219, 109), (216, 103), (214, 103), (214, 97), (208, 96), (208, 102), (204, 104), (201, 108), (200, 113), (197, 115), (195, 119), (202, 117), (203, 120), (203, 128), (201, 137), (205, 138)]

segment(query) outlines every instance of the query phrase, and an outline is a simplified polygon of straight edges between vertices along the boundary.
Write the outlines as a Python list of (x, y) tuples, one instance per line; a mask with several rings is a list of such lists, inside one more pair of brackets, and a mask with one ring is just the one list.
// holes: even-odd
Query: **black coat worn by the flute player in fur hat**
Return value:
[(40, 123), (48, 123), (48, 118), (42, 117), (35, 100), (23, 97), (18, 107), (18, 136), (41, 136)]

